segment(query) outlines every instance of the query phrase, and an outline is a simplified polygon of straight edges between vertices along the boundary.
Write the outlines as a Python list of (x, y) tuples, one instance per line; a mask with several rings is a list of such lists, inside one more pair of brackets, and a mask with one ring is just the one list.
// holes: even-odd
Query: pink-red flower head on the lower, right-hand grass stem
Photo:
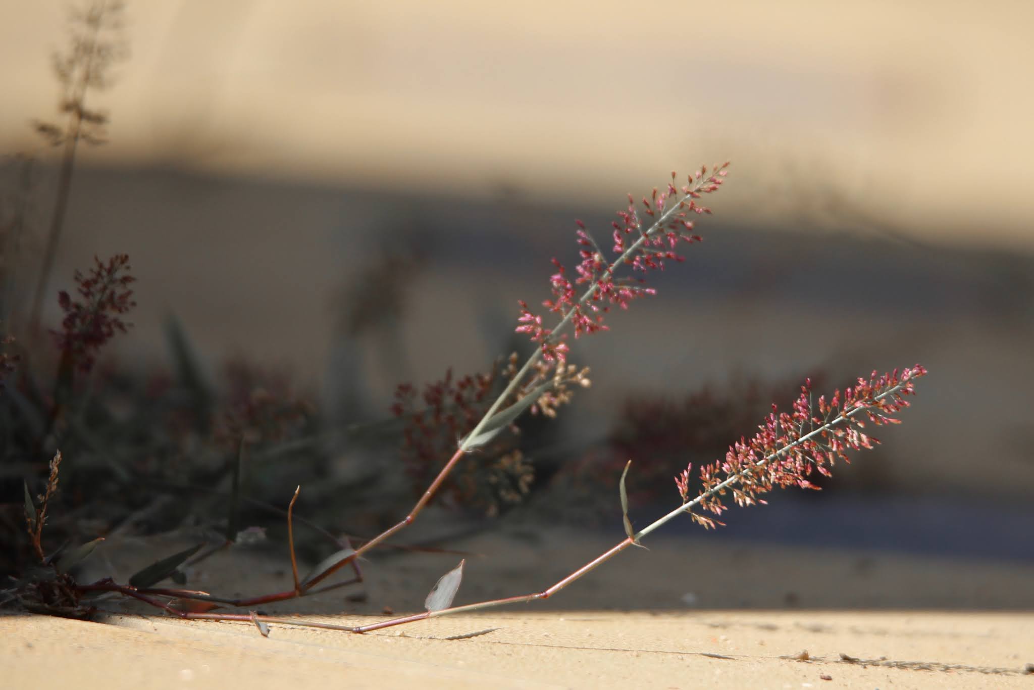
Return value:
[[(759, 494), (779, 486), (799, 486), (817, 489), (809, 481), (813, 472), (830, 476), (829, 467), (835, 459), (849, 462), (845, 451), (873, 448), (879, 444), (861, 429), (865, 422), (873, 424), (900, 424), (893, 417), (909, 407), (906, 395), (914, 390), (914, 380), (925, 374), (926, 369), (916, 364), (899, 373), (858, 379), (857, 385), (844, 391), (837, 390), (828, 401), (819, 396), (813, 404), (812, 382), (800, 387), (800, 396), (793, 403), (792, 413), (780, 413), (776, 406), (758, 432), (750, 440), (740, 439), (729, 448), (724, 460), (716, 460), (700, 468), (700, 494), (693, 501), (690, 496), (690, 472), (693, 464), (675, 477), (675, 485), (682, 497), (682, 508), (699, 524), (712, 529), (723, 524), (706, 515), (692, 512), (699, 505), (704, 510), (721, 515), (727, 506), (722, 502), (726, 491), (732, 492), (737, 506), (764, 504)], [(677, 512), (677, 511), (676, 511)]]

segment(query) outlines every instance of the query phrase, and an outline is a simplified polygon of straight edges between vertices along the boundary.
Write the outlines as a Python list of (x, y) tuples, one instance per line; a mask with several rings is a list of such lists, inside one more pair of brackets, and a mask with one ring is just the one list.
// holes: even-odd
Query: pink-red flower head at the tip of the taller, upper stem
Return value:
[[(547, 362), (562, 364), (570, 348), (565, 342), (567, 333), (561, 331), (569, 323), (574, 324), (575, 338), (605, 331), (607, 326), (603, 323), (603, 314), (613, 305), (627, 309), (632, 300), (656, 294), (652, 288), (642, 287), (644, 278), (617, 278), (618, 269), (631, 266), (633, 273), (645, 273), (652, 269), (663, 270), (666, 260), (685, 261), (686, 258), (675, 251), (679, 242), (692, 244), (701, 241), (699, 235), (693, 234), (694, 222), (689, 218), (692, 214), (710, 213), (710, 209), (698, 206), (696, 200), (719, 189), (728, 174), (728, 162), (714, 166), (710, 175), (707, 174), (707, 167), (703, 166), (695, 175), (690, 175), (687, 184), (680, 188), (675, 186), (677, 176), (672, 173), (666, 189), (659, 191), (653, 187), (649, 198), (643, 197), (642, 208), (629, 194), (628, 208), (618, 211), (618, 220), (611, 223), (613, 259), (607, 259), (585, 224), (578, 220), (576, 236), (581, 247), (581, 261), (575, 266), (577, 276), (572, 281), (567, 268), (553, 259), (556, 273), (549, 278), (553, 298), (542, 303), (549, 311), (559, 314), (560, 322), (554, 328), (546, 328), (542, 317), (521, 300), (518, 302), (520, 317), (516, 331), (527, 333), (533, 342), (540, 343), (542, 358)], [(640, 213), (651, 218), (652, 222), (645, 221), (644, 227)], [(581, 284), (588, 287), (579, 297), (575, 287)]]

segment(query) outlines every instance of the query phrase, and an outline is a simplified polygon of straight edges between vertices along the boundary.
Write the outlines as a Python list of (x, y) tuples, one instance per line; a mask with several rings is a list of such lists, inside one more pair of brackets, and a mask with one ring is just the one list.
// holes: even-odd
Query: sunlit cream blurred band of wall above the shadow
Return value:
[[(0, 151), (37, 146), (65, 2), (0, 9)], [(130, 2), (93, 160), (401, 193), (619, 199), (732, 158), (725, 212), (832, 193), (934, 243), (1034, 245), (1034, 5)]]

